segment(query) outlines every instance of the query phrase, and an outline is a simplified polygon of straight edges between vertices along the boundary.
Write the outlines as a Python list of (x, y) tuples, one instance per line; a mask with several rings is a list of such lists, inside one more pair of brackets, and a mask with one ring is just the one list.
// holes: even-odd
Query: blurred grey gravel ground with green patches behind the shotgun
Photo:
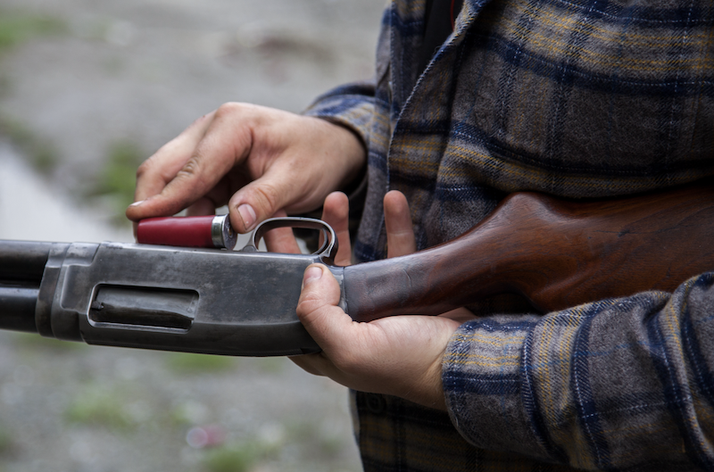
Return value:
[[(0, 239), (130, 242), (141, 161), (369, 79), (384, 3), (0, 0)], [(345, 388), (289, 360), (0, 333), (0, 472), (359, 469)]]

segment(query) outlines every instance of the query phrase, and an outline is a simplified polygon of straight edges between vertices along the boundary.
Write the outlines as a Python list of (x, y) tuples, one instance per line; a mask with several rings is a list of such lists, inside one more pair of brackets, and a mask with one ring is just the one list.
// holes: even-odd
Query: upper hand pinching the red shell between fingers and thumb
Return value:
[(244, 233), (278, 211), (319, 208), (365, 160), (360, 139), (326, 120), (224, 104), (139, 167), (127, 217), (212, 214), (228, 204), (231, 225)]

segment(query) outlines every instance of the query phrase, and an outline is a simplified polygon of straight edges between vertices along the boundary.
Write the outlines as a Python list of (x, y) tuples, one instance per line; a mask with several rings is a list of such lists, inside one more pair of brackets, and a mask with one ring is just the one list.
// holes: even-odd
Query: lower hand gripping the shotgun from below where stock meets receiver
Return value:
[[(388, 257), (412, 253), (415, 241), (404, 195), (386, 195), (385, 217)], [(345, 246), (342, 240), (340, 244)], [(442, 358), (456, 328), (472, 316), (469, 311), (357, 323), (336, 306), (339, 294), (327, 268), (313, 264), (305, 270), (297, 316), (322, 352), (292, 360), (311, 374), (330, 377), (355, 390), (392, 394), (445, 410)]]

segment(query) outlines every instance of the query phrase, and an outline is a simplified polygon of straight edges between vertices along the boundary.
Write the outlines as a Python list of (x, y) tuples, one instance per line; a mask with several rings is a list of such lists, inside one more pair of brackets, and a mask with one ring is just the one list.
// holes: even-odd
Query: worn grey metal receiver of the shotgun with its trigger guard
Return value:
[[(258, 252), (262, 235), (280, 227), (319, 229), (325, 244), (312, 254)], [(4, 306), (18, 313), (12, 322), (0, 319), (0, 327), (31, 331), (32, 325), (58, 339), (168, 351), (240, 356), (320, 351), (295, 315), (304, 270), (314, 262), (331, 263), (336, 254), (335, 233), (320, 220), (267, 220), (239, 252), (37, 244), (27, 243), (26, 249), (45, 254), (38, 256), (46, 260), (42, 283), (32, 293), (0, 292), (8, 298)]]

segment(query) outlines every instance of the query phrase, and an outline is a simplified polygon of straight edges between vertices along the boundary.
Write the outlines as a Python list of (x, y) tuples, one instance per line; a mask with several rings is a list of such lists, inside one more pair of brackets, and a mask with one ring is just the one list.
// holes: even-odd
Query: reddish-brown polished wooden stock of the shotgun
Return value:
[(599, 202), (510, 195), (466, 234), (345, 268), (353, 319), (439, 314), (523, 294), (541, 311), (646, 290), (671, 292), (714, 269), (714, 186)]

